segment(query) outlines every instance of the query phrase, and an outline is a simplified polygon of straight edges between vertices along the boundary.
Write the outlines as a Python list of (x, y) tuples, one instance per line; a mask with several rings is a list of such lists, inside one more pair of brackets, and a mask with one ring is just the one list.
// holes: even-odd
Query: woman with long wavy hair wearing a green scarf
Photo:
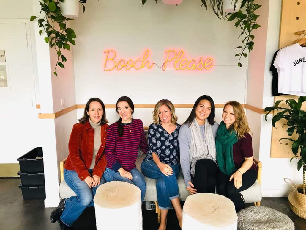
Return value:
[(242, 105), (227, 102), (217, 130), (216, 152), (220, 171), (217, 174), (218, 194), (233, 201), (236, 211), (245, 208), (240, 191), (251, 187), (257, 178), (253, 163), (251, 130)]

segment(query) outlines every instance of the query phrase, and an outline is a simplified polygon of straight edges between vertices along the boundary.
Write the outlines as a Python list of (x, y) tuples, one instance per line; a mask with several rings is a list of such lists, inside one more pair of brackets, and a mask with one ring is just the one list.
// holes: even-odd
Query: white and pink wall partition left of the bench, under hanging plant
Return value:
[[(34, 14), (40, 11), (39, 2), (33, 0)], [(37, 22), (33, 22), (35, 25)], [(76, 104), (73, 66), (73, 48), (64, 51), (68, 59), (65, 70), (57, 68), (58, 76), (53, 75), (57, 54), (39, 36), (37, 26), (34, 40), (36, 44), (37, 73), (39, 79), (41, 113), (55, 113)], [(64, 101), (64, 105), (62, 105)], [(44, 155), (44, 173), (46, 199), (45, 207), (56, 207), (59, 202), (59, 162), (68, 155), (68, 140), (73, 124), (76, 123), (76, 111), (55, 119), (39, 119), (41, 143)]]

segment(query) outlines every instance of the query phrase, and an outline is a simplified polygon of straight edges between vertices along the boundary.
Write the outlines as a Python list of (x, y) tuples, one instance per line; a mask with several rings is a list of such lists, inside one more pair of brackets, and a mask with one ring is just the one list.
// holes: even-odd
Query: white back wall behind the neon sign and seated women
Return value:
[[(161, 1), (147, 1), (144, 7), (138, 0), (88, 2), (85, 13), (73, 21), (77, 35), (76, 103), (99, 97), (105, 104), (115, 104), (126, 95), (134, 104), (155, 104), (162, 98), (193, 104), (203, 94), (210, 95), (215, 103), (244, 103), (247, 66), (238, 67), (234, 57), (234, 48), (240, 44), (239, 30), (233, 22), (219, 20), (200, 6), (197, 0), (184, 1), (178, 7)], [(189, 59), (214, 58), (215, 66), (210, 71), (162, 71), (156, 66), (150, 70), (103, 71), (103, 51), (110, 48), (116, 50), (118, 59), (142, 57), (149, 48), (151, 61), (159, 66), (166, 49), (184, 49)], [(243, 64), (247, 62), (242, 59)], [(189, 114), (190, 109), (186, 111), (184, 114)], [(185, 121), (184, 116), (180, 121)], [(151, 112), (135, 111), (134, 117), (144, 120), (144, 125), (151, 122)]]

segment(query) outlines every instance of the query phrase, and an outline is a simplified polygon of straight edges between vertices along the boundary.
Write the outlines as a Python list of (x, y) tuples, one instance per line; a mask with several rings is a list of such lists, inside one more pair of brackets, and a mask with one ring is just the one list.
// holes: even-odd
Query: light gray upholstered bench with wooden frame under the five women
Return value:
[[(138, 156), (136, 160), (136, 168), (141, 172), (140, 170), (140, 164), (143, 161), (145, 157), (145, 154)], [(60, 162), (60, 169), (61, 169), (61, 184), (59, 186), (59, 193), (61, 198), (69, 198), (71, 196), (76, 196), (76, 194), (71, 190), (68, 185), (66, 184), (64, 180), (64, 164), (65, 164), (66, 159)], [(262, 163), (254, 158), (255, 164), (258, 166), (258, 175), (257, 175), (257, 180), (256, 182), (247, 190), (244, 190), (241, 192), (241, 194), (244, 197), (244, 201), (246, 203), (253, 203), (256, 206), (260, 206), (260, 201), (261, 201), (261, 167)], [(147, 191), (146, 195), (144, 197), (144, 201), (155, 201), (155, 207), (156, 207), (156, 213), (157, 215), (157, 220), (160, 222), (160, 210), (158, 208), (158, 203), (157, 203), (157, 193), (156, 193), (156, 179), (151, 179), (147, 178), (144, 176), (144, 179), (147, 184)], [(180, 192), (180, 200), (185, 201), (186, 198), (190, 195), (189, 192), (187, 191), (185, 187), (185, 182), (183, 178), (182, 172), (180, 172), (180, 175), (177, 179), (178, 186), (179, 186), (179, 192)]]

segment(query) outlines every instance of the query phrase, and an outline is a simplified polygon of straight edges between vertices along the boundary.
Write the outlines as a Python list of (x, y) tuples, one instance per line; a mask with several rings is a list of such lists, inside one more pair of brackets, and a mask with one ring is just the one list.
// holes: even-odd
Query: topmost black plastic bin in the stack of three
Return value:
[(28, 153), (19, 157), (17, 160), (19, 161), (20, 171), (22, 173), (43, 172), (43, 159), (35, 159), (37, 156), (43, 157), (42, 147), (33, 148)]

